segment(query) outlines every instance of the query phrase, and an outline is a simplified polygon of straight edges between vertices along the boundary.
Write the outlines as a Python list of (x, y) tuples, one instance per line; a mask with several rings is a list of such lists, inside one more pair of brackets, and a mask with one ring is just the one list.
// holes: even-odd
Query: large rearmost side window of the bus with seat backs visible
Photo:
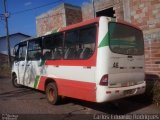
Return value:
[(96, 26), (66, 32), (64, 59), (89, 59), (95, 51)]

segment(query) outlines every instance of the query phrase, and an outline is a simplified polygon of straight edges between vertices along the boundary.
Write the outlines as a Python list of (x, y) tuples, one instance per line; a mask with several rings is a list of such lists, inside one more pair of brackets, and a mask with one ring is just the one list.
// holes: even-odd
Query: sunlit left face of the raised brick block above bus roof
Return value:
[(37, 36), (52, 32), (60, 27), (65, 27), (65, 11), (61, 5), (36, 18)]

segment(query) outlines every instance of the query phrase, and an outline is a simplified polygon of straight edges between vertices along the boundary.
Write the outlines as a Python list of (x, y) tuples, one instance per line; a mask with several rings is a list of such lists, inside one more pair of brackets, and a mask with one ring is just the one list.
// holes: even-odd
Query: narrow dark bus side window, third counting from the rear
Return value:
[(42, 39), (37, 38), (29, 41), (28, 60), (40, 60), (42, 58)]

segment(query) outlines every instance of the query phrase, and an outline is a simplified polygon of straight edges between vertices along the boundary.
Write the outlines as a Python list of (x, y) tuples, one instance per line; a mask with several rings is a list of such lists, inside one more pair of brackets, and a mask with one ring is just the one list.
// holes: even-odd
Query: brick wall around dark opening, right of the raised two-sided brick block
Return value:
[[(143, 30), (146, 73), (160, 76), (160, 1), (95, 0), (96, 11), (113, 7), (116, 19), (128, 21)], [(93, 18), (93, 6), (82, 6), (83, 20)]]

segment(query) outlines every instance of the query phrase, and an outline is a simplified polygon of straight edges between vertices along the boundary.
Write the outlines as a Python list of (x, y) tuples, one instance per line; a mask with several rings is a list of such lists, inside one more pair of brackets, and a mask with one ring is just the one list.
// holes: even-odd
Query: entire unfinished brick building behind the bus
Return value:
[[(70, 5), (67, 4), (67, 6)], [(160, 0), (94, 0), (94, 6), (96, 16), (109, 16), (122, 19), (137, 25), (143, 30), (146, 73), (160, 76)], [(83, 4), (81, 9), (74, 6), (74, 9), (70, 9), (68, 12), (64, 12), (66, 10), (65, 4), (58, 8), (65, 13), (61, 16), (65, 15), (70, 19), (61, 17), (61, 20), (58, 20), (59, 16), (53, 16), (40, 22), (41, 17), (48, 16), (48, 13), (43, 14), (37, 17), (38, 35), (43, 35), (47, 31), (80, 22), (81, 20), (94, 18), (92, 3)], [(53, 10), (51, 13), (53, 14), (56, 10)], [(76, 10), (79, 14), (75, 14)], [(53, 18), (54, 21), (51, 21)]]

